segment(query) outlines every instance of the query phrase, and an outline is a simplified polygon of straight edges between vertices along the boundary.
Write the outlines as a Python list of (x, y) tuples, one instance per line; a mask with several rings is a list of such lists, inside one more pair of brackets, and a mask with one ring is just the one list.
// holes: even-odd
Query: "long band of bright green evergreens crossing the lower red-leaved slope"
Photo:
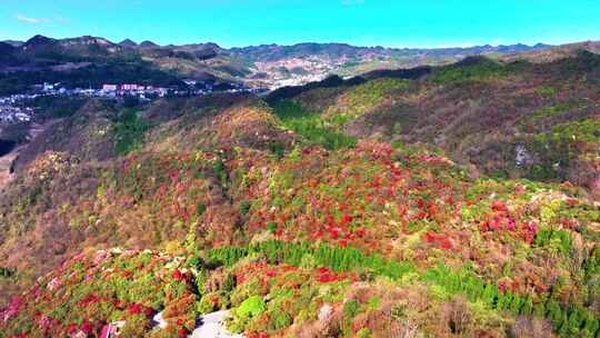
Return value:
[[(550, 236), (551, 237), (551, 236)], [(408, 272), (416, 271), (409, 262), (384, 259), (381, 255), (366, 255), (349, 247), (330, 247), (321, 243), (312, 247), (309, 242), (287, 243), (270, 240), (246, 248), (223, 247), (209, 251), (211, 264), (232, 266), (248, 256), (262, 256), (270, 264), (301, 266), (303, 258), (311, 256), (317, 265), (337, 271), (370, 270), (378, 276), (400, 279)], [(587, 260), (587, 271), (597, 271), (600, 250), (596, 249)], [(443, 265), (428, 269), (421, 280), (443, 287), (449, 294), (462, 294), (470, 301), (483, 301), (488, 307), (516, 316), (536, 316), (549, 319), (562, 337), (600, 338), (600, 319), (581, 306), (561, 306), (548, 296), (538, 301), (529, 295), (518, 295), (510, 290), (502, 291), (494, 282), (487, 282), (474, 272), (462, 269), (452, 270)]]

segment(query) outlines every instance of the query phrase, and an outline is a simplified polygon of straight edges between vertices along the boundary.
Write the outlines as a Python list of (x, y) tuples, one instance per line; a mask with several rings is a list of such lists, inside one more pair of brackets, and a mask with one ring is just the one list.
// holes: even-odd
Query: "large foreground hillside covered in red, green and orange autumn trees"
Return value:
[(600, 56), (410, 74), (61, 117), (0, 193), (0, 336), (600, 337)]

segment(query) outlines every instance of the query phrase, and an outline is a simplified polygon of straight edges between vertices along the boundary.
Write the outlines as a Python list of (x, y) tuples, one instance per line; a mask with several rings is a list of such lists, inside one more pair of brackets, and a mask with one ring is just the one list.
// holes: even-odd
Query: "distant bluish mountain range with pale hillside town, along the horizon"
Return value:
[[(69, 73), (67, 82), (73, 86), (82, 81), (100, 86), (104, 81), (126, 80), (172, 83), (177, 78), (244, 82), (274, 89), (319, 81), (330, 74), (351, 77), (376, 70), (448, 64), (469, 56), (547, 57), (544, 53), (554, 49), (543, 43), (410, 49), (312, 42), (226, 49), (213, 42), (159, 46), (130, 39), (114, 43), (91, 36), (70, 39), (36, 36), (28, 41), (0, 42), (0, 93), (22, 90), (32, 81), (62, 80), (64, 72)], [(24, 77), (16, 72), (36, 74)]]

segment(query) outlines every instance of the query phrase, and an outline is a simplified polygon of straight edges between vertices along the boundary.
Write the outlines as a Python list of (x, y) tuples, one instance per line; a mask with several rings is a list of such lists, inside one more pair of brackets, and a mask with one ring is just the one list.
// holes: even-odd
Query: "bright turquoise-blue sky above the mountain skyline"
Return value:
[(224, 47), (450, 47), (600, 40), (599, 0), (0, 0), (0, 40), (37, 33)]

